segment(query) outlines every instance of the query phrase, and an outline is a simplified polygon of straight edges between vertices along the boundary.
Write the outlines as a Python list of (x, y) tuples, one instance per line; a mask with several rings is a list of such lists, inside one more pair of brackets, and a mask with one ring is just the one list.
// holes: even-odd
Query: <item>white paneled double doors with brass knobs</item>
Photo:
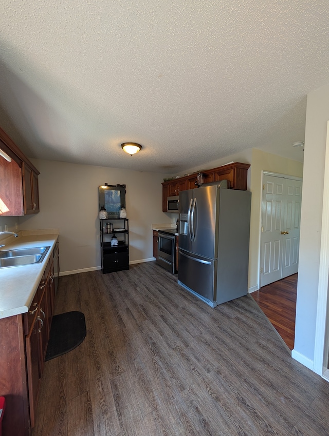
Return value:
[(298, 271), (302, 181), (264, 174), (260, 286)]

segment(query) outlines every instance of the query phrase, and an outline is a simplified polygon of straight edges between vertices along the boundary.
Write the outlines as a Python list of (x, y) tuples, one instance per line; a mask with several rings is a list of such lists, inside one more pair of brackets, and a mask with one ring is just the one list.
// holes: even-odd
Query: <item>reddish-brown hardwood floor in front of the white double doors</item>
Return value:
[(297, 276), (290, 275), (251, 293), (289, 350), (294, 349), (295, 341)]

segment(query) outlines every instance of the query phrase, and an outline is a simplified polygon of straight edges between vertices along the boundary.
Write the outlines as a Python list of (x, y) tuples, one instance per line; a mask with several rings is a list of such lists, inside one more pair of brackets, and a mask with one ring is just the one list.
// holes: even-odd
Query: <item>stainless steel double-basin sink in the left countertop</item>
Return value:
[(0, 268), (40, 263), (49, 248), (50, 246), (0, 251)]

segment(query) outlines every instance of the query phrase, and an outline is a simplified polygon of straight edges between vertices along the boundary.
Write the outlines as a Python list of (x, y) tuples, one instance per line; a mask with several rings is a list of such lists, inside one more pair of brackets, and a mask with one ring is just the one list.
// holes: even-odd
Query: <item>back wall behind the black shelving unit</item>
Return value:
[(153, 257), (152, 223), (170, 223), (162, 212), (166, 175), (117, 168), (33, 160), (40, 171), (40, 213), (19, 218), (19, 229), (60, 230), (61, 272), (100, 267), (98, 186), (126, 185), (130, 262)]

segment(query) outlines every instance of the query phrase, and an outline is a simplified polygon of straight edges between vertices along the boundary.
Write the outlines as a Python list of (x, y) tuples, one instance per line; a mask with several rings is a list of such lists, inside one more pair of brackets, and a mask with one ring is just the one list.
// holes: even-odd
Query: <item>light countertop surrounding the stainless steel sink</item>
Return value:
[(19, 237), (1, 240), (0, 245), (5, 243), (6, 246), (0, 250), (40, 246), (50, 248), (41, 263), (0, 268), (0, 319), (28, 311), (59, 236), (56, 229), (17, 233)]

